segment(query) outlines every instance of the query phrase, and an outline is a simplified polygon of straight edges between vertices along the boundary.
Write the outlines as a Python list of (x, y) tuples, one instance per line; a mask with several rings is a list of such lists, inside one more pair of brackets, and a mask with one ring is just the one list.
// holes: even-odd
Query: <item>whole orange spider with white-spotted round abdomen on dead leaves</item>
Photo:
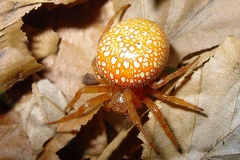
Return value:
[(99, 39), (93, 68), (96, 78), (103, 85), (85, 86), (79, 89), (73, 100), (67, 105), (67, 109), (72, 108), (73, 104), (82, 94), (102, 94), (86, 101), (75, 113), (67, 115), (60, 120), (50, 122), (50, 124), (62, 123), (77, 118), (92, 108), (106, 102), (104, 107), (107, 109), (129, 115), (133, 124), (143, 133), (156, 153), (159, 153), (157, 147), (144, 130), (136, 112), (136, 109), (140, 108), (143, 103), (153, 112), (169, 139), (180, 150), (180, 146), (167, 126), (161, 111), (147, 95), (195, 111), (203, 111), (202, 108), (166, 95), (158, 90), (170, 80), (184, 74), (196, 60), (154, 82), (167, 63), (169, 43), (162, 29), (147, 19), (129, 19), (111, 27), (115, 17), (129, 6), (123, 6), (116, 12), (109, 21), (104, 34)]

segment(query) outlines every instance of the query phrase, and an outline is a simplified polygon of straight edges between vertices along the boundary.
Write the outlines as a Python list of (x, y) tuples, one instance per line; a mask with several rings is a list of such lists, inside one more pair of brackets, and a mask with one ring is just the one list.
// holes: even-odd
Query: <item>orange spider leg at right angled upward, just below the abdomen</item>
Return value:
[(159, 81), (157, 82), (153, 82), (152, 84), (149, 85), (149, 87), (151, 87), (152, 89), (158, 89), (160, 87), (162, 87), (163, 85), (167, 84), (169, 81), (171, 81), (172, 79), (179, 77), (181, 75), (183, 75), (184, 73), (187, 72), (187, 70), (197, 62), (197, 60), (199, 59), (196, 58), (194, 61), (192, 61), (191, 63), (189, 63), (188, 65), (178, 69), (177, 71), (167, 75), (166, 77), (161, 78)]

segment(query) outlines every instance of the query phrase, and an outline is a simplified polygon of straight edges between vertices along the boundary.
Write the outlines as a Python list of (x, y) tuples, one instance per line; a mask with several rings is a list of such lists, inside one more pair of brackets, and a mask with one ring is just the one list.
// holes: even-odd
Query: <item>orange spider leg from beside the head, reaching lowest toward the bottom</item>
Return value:
[(136, 109), (135, 109), (133, 103), (132, 103), (132, 94), (133, 93), (131, 92), (130, 89), (125, 89), (123, 94), (124, 94), (124, 100), (126, 101), (127, 111), (128, 111), (128, 114), (129, 114), (132, 122), (139, 129), (139, 131), (142, 132), (142, 134), (147, 139), (148, 143), (152, 146), (152, 148), (156, 151), (156, 153), (159, 154), (157, 147), (153, 144), (152, 140), (150, 139), (150, 137), (147, 135), (146, 131), (144, 130), (141, 120), (136, 112)]

